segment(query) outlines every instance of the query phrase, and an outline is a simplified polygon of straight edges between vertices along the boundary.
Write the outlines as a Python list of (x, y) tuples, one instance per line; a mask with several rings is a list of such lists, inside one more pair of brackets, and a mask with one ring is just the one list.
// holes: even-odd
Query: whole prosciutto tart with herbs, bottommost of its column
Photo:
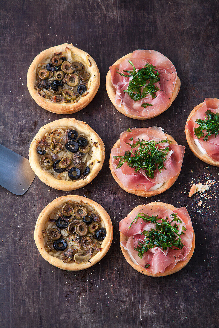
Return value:
[(195, 234), (185, 207), (152, 202), (135, 207), (119, 223), (120, 247), (127, 262), (146, 276), (181, 270), (195, 248)]

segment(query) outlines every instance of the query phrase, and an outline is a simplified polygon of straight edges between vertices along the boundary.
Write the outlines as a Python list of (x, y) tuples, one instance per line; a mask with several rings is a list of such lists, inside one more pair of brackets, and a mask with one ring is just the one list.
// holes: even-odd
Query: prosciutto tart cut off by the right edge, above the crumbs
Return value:
[(219, 99), (206, 98), (186, 121), (189, 148), (203, 162), (219, 166)]

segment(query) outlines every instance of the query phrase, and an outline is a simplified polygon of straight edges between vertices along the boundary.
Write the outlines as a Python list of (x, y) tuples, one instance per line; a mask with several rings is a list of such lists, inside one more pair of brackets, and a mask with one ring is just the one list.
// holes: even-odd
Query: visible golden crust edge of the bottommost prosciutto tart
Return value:
[[(149, 204), (145, 204), (145, 205), (139, 205), (139, 206), (136, 206), (130, 213), (134, 212), (134, 210), (137, 208), (137, 207), (141, 207), (142, 206), (154, 206), (154, 205), (161, 205), (161, 206), (165, 206), (167, 208), (169, 208), (171, 211), (175, 211), (176, 210), (176, 207), (174, 207), (173, 205), (171, 204), (167, 204), (167, 203), (162, 203), (162, 202), (152, 202), (152, 203), (149, 203)], [(127, 241), (126, 238), (129, 238), (129, 237), (126, 237), (124, 236), (122, 233), (120, 233), (120, 238), (119, 238), (119, 241), (120, 241), (120, 247), (121, 247), (121, 250), (122, 250), (122, 254), (124, 255), (126, 261), (135, 269), (137, 270), (138, 272), (140, 273), (143, 273), (143, 275), (146, 275), (146, 276), (151, 276), (151, 277), (164, 277), (164, 276), (169, 276), (169, 275), (172, 275), (173, 273), (177, 272), (177, 271), (180, 271), (182, 268), (184, 268), (184, 266), (188, 263), (188, 261), (190, 260), (190, 258), (192, 257), (193, 255), (193, 252), (194, 252), (194, 249), (195, 249), (195, 233), (194, 233), (194, 230), (193, 230), (193, 236), (192, 236), (192, 248), (189, 252), (189, 254), (187, 255), (187, 258), (185, 261), (179, 261), (175, 267), (171, 270), (165, 270), (164, 272), (160, 272), (160, 273), (150, 273), (148, 272), (148, 270), (146, 270), (145, 268), (142, 268), (140, 265), (137, 265), (135, 264), (129, 254), (128, 254), (128, 251), (126, 249), (124, 249), (122, 246), (121, 246), (121, 241)]]

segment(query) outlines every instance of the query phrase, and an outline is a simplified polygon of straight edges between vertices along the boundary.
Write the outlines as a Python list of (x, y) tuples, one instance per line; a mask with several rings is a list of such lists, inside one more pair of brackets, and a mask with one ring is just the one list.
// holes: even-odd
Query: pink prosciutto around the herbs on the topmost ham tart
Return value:
[[(145, 64), (150, 63), (156, 66), (160, 80), (155, 85), (159, 88), (156, 93), (156, 98), (152, 99), (149, 94), (141, 100), (134, 101), (127, 90), (129, 85), (129, 77), (121, 76), (117, 72), (133, 71), (132, 65), (128, 62), (132, 61), (136, 69), (141, 69)], [(172, 98), (173, 90), (177, 80), (177, 72), (171, 61), (158, 51), (154, 50), (136, 50), (133, 51), (130, 58), (124, 59), (120, 64), (109, 67), (111, 73), (112, 85), (116, 89), (115, 102), (120, 108), (124, 106), (127, 114), (134, 114), (140, 117), (152, 117), (162, 113), (169, 105)], [(142, 108), (141, 105), (147, 102), (152, 106)]]

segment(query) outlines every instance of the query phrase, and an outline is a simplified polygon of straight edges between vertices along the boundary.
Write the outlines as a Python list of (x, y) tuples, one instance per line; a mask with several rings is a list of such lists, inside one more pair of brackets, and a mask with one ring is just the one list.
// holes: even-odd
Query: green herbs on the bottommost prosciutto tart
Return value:
[[(179, 234), (179, 226), (177, 223), (181, 223), (182, 220), (177, 218), (176, 213), (172, 213), (170, 215), (170, 217), (173, 218), (170, 222), (167, 222), (168, 216), (164, 220), (163, 218), (158, 218), (158, 215), (149, 216), (143, 213), (139, 213), (131, 225), (136, 223), (139, 217), (142, 218), (145, 222), (150, 221), (155, 223), (156, 221), (161, 221), (156, 222), (155, 229), (151, 229), (150, 231), (144, 230), (142, 232), (142, 235), (145, 236), (145, 240), (144, 242), (138, 241), (138, 246), (134, 248), (135, 251), (138, 251), (138, 256), (140, 258), (142, 258), (144, 253), (149, 251), (149, 249), (154, 247), (160, 247), (163, 251), (166, 251), (167, 248), (182, 249), (183, 243), (181, 241), (181, 235), (185, 233), (182, 231), (181, 234)], [(174, 221), (177, 223), (171, 225), (171, 223)], [(182, 230), (185, 231), (186, 228), (182, 227)]]

